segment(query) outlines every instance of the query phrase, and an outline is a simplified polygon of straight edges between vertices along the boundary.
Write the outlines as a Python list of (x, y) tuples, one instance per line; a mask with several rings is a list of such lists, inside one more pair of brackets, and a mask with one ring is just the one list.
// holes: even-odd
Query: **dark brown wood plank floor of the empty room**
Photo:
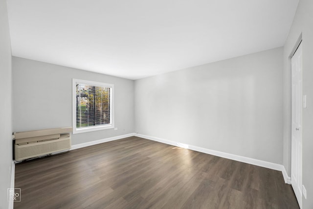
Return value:
[(131, 137), (16, 164), (15, 209), (298, 209), (279, 171)]

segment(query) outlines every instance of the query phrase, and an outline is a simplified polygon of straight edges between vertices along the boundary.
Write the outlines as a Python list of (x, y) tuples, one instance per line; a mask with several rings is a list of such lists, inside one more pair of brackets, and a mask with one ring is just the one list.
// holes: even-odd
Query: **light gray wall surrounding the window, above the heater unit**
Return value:
[(114, 84), (118, 130), (72, 136), (72, 144), (134, 133), (134, 81), (58, 65), (12, 58), (13, 131), (72, 126), (72, 78)]

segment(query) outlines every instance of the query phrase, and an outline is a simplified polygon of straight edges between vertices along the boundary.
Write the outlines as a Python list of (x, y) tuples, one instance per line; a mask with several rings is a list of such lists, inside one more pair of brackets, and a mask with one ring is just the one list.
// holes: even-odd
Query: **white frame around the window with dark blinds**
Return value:
[[(76, 128), (76, 83), (79, 84), (85, 84), (85, 85), (92, 85), (92, 86), (101, 86), (101, 87), (107, 87), (111, 88), (111, 99), (110, 99), (110, 107), (111, 107), (111, 123), (106, 125), (97, 125), (97, 126), (89, 126), (84, 128)], [(85, 133), (90, 131), (99, 131), (104, 129), (111, 129), (114, 128), (114, 85), (113, 84), (107, 84), (107, 83), (100, 83), (95, 81), (87, 81), (87, 80), (81, 80), (81, 79), (75, 79), (72, 80), (72, 116), (73, 116), (73, 134), (79, 134), (79, 133)]]

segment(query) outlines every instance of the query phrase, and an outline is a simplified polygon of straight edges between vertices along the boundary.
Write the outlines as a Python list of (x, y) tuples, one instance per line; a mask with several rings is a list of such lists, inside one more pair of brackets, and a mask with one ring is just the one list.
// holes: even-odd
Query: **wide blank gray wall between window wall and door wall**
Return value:
[(135, 131), (283, 163), (283, 48), (135, 81)]

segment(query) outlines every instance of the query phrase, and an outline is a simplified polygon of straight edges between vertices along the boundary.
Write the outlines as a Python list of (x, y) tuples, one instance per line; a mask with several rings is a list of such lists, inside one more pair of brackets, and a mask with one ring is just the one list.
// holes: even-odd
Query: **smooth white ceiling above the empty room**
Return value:
[(7, 0), (12, 55), (139, 79), (283, 46), (299, 0)]

